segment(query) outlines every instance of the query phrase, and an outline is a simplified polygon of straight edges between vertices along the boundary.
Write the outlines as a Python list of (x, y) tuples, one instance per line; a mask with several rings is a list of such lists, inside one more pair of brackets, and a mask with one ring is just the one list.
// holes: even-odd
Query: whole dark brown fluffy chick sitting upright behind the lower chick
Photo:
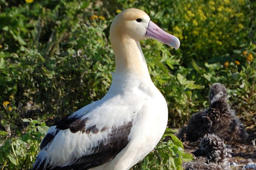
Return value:
[(227, 96), (222, 84), (213, 84), (210, 88), (210, 107), (193, 114), (188, 126), (182, 128), (177, 136), (183, 141), (197, 141), (207, 133), (215, 133), (225, 141), (244, 141), (247, 133), (234, 110), (230, 109)]

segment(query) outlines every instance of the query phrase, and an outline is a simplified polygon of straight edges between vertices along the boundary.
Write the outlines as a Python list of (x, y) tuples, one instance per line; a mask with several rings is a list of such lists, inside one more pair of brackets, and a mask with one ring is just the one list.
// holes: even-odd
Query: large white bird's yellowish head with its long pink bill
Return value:
[(150, 20), (146, 12), (135, 8), (129, 8), (115, 16), (110, 27), (110, 41), (115, 36), (127, 36), (140, 41), (147, 38), (155, 39), (175, 49), (180, 46), (177, 37), (163, 31)]

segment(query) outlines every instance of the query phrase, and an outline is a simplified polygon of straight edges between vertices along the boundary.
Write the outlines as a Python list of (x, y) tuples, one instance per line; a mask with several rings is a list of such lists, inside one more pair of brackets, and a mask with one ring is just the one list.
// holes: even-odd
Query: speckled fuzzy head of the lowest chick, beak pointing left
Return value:
[(215, 134), (205, 134), (200, 141), (199, 147), (192, 154), (195, 156), (207, 156), (208, 162), (221, 162), (227, 155), (224, 141)]

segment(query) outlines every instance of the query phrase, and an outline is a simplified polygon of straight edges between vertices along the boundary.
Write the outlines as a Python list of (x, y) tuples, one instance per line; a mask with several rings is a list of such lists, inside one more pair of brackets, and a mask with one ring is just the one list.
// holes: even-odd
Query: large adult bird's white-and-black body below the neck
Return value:
[[(113, 76), (113, 84), (115, 81), (122, 82), (123, 79), (124, 76), (119, 76), (119, 78)], [(59, 131), (58, 128), (60, 131), (51, 135), (51, 137), (55, 136), (51, 143), (45, 143), (44, 140), (47, 140), (47, 136), (44, 138), (41, 154), (47, 155), (46, 159), (49, 159), (48, 161), (53, 165), (68, 165), (71, 160), (78, 160), (84, 156), (85, 152), (91, 155), (94, 152), (97, 153), (97, 150), (107, 151), (99, 157), (94, 156), (98, 159), (98, 163), (90, 163), (91, 165), (86, 168), (92, 168), (94, 165), (101, 165), (107, 160), (113, 159), (123, 148), (125, 150), (120, 152), (117, 158), (128, 155), (126, 159), (118, 159), (127, 160), (127, 162), (115, 163), (116, 169), (123, 169), (123, 165), (133, 165), (144, 158), (146, 156), (144, 153), (150, 152), (163, 135), (167, 125), (167, 105), (162, 94), (155, 86), (152, 86), (152, 82), (148, 84), (141, 80), (138, 82), (132, 80), (134, 78), (131, 78), (131, 81), (126, 79), (122, 86), (110, 87), (108, 94), (101, 100), (86, 105), (73, 113), (69, 117), (73, 126), (67, 126), (67, 121), (60, 121), (51, 126), (47, 133), (48, 136), (53, 134), (52, 131), (54, 133)], [(120, 93), (121, 91), (122, 93)], [(158, 136), (152, 140), (152, 134)], [(104, 145), (97, 148), (100, 143)], [(114, 145), (114, 147), (109, 145)], [(112, 148), (113, 153), (107, 156)], [(133, 148), (133, 150), (129, 150), (129, 148)], [(129, 151), (129, 154), (126, 153), (126, 150)], [(138, 156), (140, 154), (141, 156)], [(139, 160), (134, 160), (133, 155), (136, 155)], [(112, 162), (114, 161), (115, 159)]]

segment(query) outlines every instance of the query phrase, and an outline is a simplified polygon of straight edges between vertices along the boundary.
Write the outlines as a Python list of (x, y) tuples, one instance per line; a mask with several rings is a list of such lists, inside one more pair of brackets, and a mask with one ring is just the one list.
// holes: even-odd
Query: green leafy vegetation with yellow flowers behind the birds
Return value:
[(179, 50), (154, 40), (142, 50), (166, 97), (165, 137), (133, 169), (181, 169), (192, 159), (174, 135), (225, 84), (230, 104), (255, 130), (256, 2), (251, 0), (0, 0), (0, 169), (31, 168), (52, 122), (101, 99), (114, 54), (109, 27), (126, 8), (146, 11), (179, 37)]

